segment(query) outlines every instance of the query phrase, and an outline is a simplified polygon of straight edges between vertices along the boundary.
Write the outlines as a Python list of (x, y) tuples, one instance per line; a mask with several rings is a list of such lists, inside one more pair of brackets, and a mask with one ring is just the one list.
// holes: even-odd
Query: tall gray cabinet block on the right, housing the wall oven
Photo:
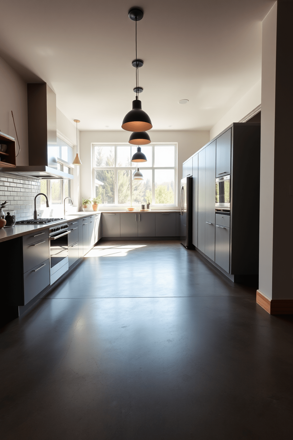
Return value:
[[(233, 281), (257, 275), (260, 124), (230, 125), (192, 156), (192, 174), (195, 249)], [(216, 178), (224, 176), (230, 176), (230, 208), (221, 210)]]

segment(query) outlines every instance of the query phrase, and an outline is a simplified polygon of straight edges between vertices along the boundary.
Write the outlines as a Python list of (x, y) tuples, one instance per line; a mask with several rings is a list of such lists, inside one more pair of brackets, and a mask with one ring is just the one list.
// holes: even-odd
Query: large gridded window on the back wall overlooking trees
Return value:
[[(136, 146), (93, 145), (93, 194), (103, 205), (177, 205), (177, 143), (142, 145), (147, 161), (131, 162)], [(143, 180), (133, 180), (136, 167)], [(103, 185), (101, 185), (103, 183)]]

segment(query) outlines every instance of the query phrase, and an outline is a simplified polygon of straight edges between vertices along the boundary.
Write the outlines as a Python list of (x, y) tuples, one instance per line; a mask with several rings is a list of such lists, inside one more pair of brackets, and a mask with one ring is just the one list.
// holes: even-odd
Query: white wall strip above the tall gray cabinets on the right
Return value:
[(243, 117), (257, 108), (261, 103), (261, 80), (257, 82), (221, 119), (210, 129), (210, 139), (216, 137), (233, 122), (239, 122)]

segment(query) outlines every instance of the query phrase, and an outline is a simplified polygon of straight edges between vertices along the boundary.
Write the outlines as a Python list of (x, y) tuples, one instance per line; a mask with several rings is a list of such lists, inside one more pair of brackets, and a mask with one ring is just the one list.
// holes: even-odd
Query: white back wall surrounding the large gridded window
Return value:
[[(153, 131), (149, 132), (152, 143), (177, 142), (178, 143), (178, 189), (182, 177), (182, 163), (198, 151), (210, 140), (208, 131)], [(81, 197), (92, 197), (92, 163), (91, 143), (96, 142), (128, 142), (130, 132), (126, 131), (81, 131), (80, 132), (80, 160), (83, 165), (81, 173)], [(81, 200), (80, 200), (81, 202)], [(174, 208), (178, 209), (178, 207)]]

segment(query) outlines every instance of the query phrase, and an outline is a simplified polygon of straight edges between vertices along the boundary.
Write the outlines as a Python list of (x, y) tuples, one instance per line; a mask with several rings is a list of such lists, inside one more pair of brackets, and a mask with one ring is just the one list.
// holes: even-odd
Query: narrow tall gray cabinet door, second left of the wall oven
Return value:
[(206, 149), (199, 151), (198, 178), (198, 242), (197, 247), (205, 251), (205, 222), (206, 222)]

